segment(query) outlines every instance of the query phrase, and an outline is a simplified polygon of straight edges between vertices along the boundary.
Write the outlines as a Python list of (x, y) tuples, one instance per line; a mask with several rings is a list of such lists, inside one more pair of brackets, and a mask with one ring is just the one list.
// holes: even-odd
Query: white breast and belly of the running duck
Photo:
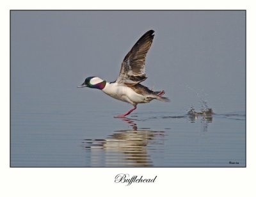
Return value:
[(145, 100), (143, 95), (140, 95), (127, 86), (118, 83), (107, 83), (102, 89), (104, 93), (118, 100), (129, 102), (130, 104), (141, 103)]

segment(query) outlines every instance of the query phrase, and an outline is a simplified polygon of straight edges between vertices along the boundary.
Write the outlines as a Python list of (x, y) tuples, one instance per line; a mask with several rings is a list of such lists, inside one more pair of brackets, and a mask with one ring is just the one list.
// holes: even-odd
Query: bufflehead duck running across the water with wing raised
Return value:
[(133, 108), (124, 114), (116, 117), (124, 117), (136, 109), (137, 104), (147, 103), (153, 99), (168, 102), (169, 99), (162, 97), (162, 91), (152, 91), (146, 86), (141, 85), (147, 79), (145, 73), (145, 59), (147, 52), (153, 42), (154, 31), (147, 31), (138, 42), (132, 47), (131, 51), (125, 56), (122, 62), (120, 74), (115, 82), (108, 83), (99, 77), (87, 77), (84, 83), (78, 88), (89, 87), (102, 90), (107, 95), (132, 104)]

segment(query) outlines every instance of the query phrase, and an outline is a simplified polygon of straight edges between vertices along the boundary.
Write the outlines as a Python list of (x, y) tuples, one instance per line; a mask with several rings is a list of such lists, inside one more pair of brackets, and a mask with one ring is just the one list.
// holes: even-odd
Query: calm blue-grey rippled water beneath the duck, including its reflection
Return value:
[(12, 108), (11, 166), (245, 166), (243, 111), (191, 116), (139, 106), (113, 118), (122, 111), (100, 105)]

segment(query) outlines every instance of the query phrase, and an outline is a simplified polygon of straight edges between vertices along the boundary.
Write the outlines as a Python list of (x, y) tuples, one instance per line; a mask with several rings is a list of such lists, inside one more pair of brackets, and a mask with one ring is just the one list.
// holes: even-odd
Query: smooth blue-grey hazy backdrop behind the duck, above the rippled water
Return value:
[[(12, 102), (54, 97), (56, 102), (74, 99), (128, 107), (100, 91), (76, 86), (93, 75), (114, 81), (125, 54), (154, 29), (143, 84), (164, 89), (172, 100), (170, 110), (196, 106), (197, 94), (216, 112), (222, 112), (223, 105), (232, 111), (234, 103), (244, 110), (243, 11), (15, 11), (11, 16)], [(147, 107), (154, 109), (153, 104)]]

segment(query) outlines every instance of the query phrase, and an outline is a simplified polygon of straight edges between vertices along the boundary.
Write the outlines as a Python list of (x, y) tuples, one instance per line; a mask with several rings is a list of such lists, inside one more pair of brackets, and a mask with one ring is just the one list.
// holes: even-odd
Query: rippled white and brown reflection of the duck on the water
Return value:
[(150, 152), (159, 152), (155, 145), (163, 145), (164, 131), (138, 129), (134, 119), (122, 118), (131, 130), (115, 130), (106, 139), (84, 139), (83, 147), (90, 154), (92, 166), (150, 167), (154, 166)]

